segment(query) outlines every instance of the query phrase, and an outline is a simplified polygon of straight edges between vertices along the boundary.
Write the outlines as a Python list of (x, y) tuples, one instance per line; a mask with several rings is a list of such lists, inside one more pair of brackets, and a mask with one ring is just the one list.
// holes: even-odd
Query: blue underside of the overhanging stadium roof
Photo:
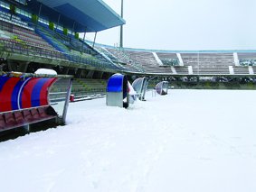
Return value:
[(125, 20), (114, 12), (102, 0), (27, 0), (27, 5), (17, 7), (31, 14), (39, 14), (40, 18), (58, 23), (59, 14), (62, 27), (72, 29), (74, 32), (100, 32), (112, 27), (125, 24)]

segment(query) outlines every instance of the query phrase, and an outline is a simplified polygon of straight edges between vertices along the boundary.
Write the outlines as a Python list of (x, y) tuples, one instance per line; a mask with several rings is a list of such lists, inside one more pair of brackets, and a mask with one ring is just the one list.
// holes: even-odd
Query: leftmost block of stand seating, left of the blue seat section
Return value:
[[(4, 11), (0, 11), (0, 13), (2, 18), (0, 21), (0, 29), (2, 30), (0, 44), (3, 50), (63, 59), (62, 53), (56, 51), (52, 45), (36, 34), (33, 27), (29, 26), (27, 22), (23, 22), (16, 15), (13, 15), (10, 20), (10, 14)], [(7, 20), (7, 17), (9, 17), (9, 20)]]

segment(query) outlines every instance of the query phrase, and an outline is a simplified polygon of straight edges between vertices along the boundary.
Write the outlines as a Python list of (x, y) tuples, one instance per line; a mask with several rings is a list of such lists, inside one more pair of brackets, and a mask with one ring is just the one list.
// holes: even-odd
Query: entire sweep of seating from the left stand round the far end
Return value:
[[(240, 67), (238, 62), (234, 62), (232, 51), (181, 51), (178, 53), (178, 51), (167, 50), (116, 48), (100, 46), (97, 43), (93, 49), (90, 43), (78, 40), (74, 35), (52, 31), (43, 23), (35, 25), (31, 18), (24, 21), (24, 17), (20, 17), (18, 14), (11, 15), (4, 9), (0, 10), (0, 30), (0, 50), (52, 59), (65, 59), (102, 69), (183, 75), (224, 75), (232, 73), (230, 72), (231, 68), (233, 68), (234, 74), (254, 74), (256, 71), (256, 68), (253, 67), (256, 65), (256, 52), (236, 51), (238, 59), (235, 60), (243, 60), (241, 66), (250, 65), (251, 67), (248, 69)], [(250, 63), (251, 59), (253, 62)], [(179, 63), (182, 66), (177, 66)]]

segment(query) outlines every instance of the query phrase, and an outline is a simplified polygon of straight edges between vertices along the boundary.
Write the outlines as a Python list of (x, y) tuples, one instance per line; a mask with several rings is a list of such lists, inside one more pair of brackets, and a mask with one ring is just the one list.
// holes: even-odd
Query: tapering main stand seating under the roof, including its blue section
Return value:
[[(8, 39), (14, 40), (11, 41), (12, 43), (8, 43), (6, 38), (1, 38), (0, 42), (4, 45), (2, 48), (4, 50), (54, 59), (68, 59), (100, 68), (119, 69), (113, 65), (111, 60), (104, 59), (99, 52), (73, 36), (70, 41), (70, 37), (53, 32), (41, 24), (35, 27), (34, 23), (24, 22), (17, 15), (13, 15), (12, 20), (10, 20), (10, 16), (11, 14), (1, 10), (0, 30), (10, 32), (12, 37)], [(71, 50), (79, 50), (81, 53), (73, 55)], [(84, 53), (91, 55), (84, 57)]]

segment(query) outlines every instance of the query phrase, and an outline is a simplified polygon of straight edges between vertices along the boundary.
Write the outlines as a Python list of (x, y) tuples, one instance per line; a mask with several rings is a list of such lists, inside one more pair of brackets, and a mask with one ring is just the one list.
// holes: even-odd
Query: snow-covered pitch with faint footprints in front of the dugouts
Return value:
[(71, 103), (66, 126), (0, 142), (0, 191), (254, 192), (255, 97), (169, 90), (128, 109)]

